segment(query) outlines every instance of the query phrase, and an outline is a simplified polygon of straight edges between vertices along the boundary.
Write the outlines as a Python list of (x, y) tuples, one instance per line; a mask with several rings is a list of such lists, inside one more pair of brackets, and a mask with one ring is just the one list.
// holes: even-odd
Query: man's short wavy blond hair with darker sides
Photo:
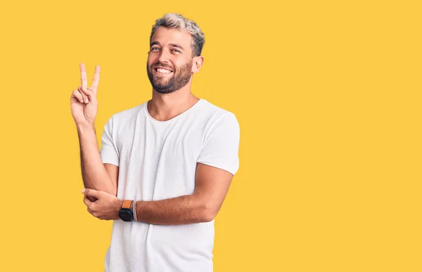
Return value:
[(166, 13), (162, 18), (155, 20), (155, 25), (153, 25), (153, 30), (151, 31), (150, 43), (158, 27), (176, 28), (189, 32), (192, 36), (192, 56), (200, 56), (205, 44), (205, 34), (196, 25), (196, 22), (177, 13)]

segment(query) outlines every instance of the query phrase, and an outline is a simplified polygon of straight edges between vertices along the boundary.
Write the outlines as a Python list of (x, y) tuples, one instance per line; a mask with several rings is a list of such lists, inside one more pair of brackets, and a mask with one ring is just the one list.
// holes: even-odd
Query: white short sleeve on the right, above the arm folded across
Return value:
[(205, 136), (198, 161), (236, 174), (239, 168), (240, 127), (232, 112), (222, 115)]

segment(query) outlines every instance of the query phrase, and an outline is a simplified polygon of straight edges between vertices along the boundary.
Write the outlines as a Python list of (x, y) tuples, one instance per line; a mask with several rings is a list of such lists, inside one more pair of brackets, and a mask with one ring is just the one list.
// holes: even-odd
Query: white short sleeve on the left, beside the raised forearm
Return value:
[(103, 163), (119, 166), (119, 153), (113, 135), (113, 117), (110, 117), (101, 136), (101, 160)]

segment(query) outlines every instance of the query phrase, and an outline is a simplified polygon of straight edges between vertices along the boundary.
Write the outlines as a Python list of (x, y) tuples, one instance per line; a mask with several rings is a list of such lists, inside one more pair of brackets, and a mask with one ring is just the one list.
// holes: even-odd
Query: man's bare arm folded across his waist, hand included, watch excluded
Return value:
[[(149, 224), (180, 225), (212, 221), (226, 197), (233, 174), (206, 164), (197, 164), (195, 190), (166, 200), (136, 201), (136, 220)], [(123, 200), (101, 190), (82, 190), (88, 212), (98, 219), (119, 219)], [(87, 200), (95, 197), (96, 202)]]

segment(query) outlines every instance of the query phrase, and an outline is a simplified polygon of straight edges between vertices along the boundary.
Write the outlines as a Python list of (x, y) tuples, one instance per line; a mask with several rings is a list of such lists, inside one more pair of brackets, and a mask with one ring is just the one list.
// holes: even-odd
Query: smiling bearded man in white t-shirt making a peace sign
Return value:
[(169, 13), (155, 21), (147, 73), (150, 101), (94, 130), (97, 65), (72, 93), (88, 212), (113, 221), (106, 271), (212, 271), (214, 219), (238, 171), (240, 129), (232, 112), (191, 93), (204, 34)]

